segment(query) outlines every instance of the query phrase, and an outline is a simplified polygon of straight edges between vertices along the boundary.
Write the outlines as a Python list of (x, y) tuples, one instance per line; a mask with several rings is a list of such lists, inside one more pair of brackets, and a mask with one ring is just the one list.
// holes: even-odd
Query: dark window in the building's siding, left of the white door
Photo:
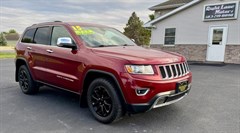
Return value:
[(174, 45), (175, 44), (175, 34), (176, 28), (166, 28), (165, 29), (165, 38), (164, 44), (165, 45)]

